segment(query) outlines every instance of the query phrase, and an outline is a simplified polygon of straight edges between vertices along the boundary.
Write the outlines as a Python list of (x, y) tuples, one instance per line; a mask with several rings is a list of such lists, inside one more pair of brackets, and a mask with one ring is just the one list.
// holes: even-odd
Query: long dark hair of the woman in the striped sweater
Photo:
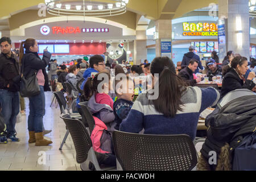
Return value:
[(150, 67), (151, 73), (159, 73), (159, 96), (152, 100), (155, 110), (166, 117), (175, 117), (178, 110), (182, 111), (181, 96), (185, 84), (176, 75), (175, 65), (169, 57), (156, 57)]

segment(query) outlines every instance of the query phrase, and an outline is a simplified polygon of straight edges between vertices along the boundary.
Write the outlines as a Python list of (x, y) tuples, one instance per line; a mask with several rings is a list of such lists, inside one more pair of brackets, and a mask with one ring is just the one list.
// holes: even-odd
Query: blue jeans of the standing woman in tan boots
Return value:
[(28, 131), (43, 132), (43, 117), (46, 114), (46, 97), (44, 87), (40, 86), (40, 94), (28, 97), (30, 100), (30, 115), (28, 115)]

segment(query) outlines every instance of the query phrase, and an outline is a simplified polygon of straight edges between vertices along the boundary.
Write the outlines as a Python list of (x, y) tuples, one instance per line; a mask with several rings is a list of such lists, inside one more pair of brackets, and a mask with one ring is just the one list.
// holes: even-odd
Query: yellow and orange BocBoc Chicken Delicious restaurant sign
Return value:
[(183, 36), (218, 36), (216, 23), (183, 23)]

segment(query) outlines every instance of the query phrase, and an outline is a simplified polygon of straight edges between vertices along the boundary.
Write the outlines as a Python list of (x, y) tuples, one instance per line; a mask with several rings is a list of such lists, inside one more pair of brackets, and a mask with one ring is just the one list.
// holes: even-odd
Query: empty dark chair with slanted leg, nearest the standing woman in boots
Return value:
[[(70, 114), (70, 117), (71, 117), (71, 118), (82, 119), (82, 116), (81, 116), (80, 114), (71, 114), (71, 113), (69, 112), (69, 108), (67, 107), (67, 101), (66, 101), (66, 99), (65, 99), (65, 97), (64, 97), (63, 92), (61, 92), (61, 91), (59, 91), (59, 92), (53, 92), (53, 94), (54, 94), (54, 96), (56, 97), (57, 102), (58, 102), (58, 104), (59, 104), (59, 106), (60, 106), (60, 114), (66, 114), (65, 109), (67, 109), (67, 111), (68, 111), (68, 113)], [(65, 136), (64, 136), (64, 138), (63, 138), (63, 141), (61, 142), (61, 145), (60, 145), (59, 150), (62, 150), (62, 147), (63, 147), (64, 143), (66, 142), (66, 140), (67, 140), (67, 138), (68, 138), (68, 134), (69, 134), (69, 131), (68, 131), (68, 129), (67, 129), (66, 134), (65, 134)]]

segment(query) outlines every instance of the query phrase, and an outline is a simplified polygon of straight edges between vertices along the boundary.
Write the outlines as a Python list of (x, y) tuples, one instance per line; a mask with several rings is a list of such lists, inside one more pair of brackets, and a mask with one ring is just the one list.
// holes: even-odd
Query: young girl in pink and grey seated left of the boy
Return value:
[[(90, 136), (93, 150), (100, 153), (98, 163), (116, 166), (115, 155), (111, 148), (111, 136), (115, 126), (113, 100), (108, 95), (110, 91), (109, 72), (100, 72), (88, 78), (84, 85), (85, 100), (88, 101), (90, 112), (94, 116), (95, 126)], [(89, 169), (94, 169), (89, 163)]]

